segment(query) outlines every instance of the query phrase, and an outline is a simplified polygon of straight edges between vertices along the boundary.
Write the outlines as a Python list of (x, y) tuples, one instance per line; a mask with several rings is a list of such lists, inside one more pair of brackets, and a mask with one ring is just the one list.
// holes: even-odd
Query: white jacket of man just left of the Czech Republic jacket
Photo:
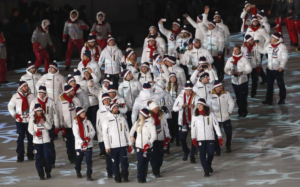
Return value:
[(124, 82), (119, 85), (119, 94), (125, 99), (128, 111), (132, 111), (133, 103), (142, 90), (141, 82), (134, 79), (127, 81), (124, 78)]

